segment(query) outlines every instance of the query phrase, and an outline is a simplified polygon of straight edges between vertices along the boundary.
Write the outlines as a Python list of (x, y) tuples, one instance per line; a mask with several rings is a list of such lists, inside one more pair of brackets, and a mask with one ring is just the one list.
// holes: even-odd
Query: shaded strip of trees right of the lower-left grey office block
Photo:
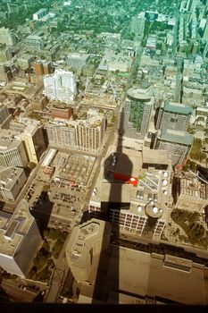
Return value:
[(58, 258), (68, 233), (62, 233), (54, 229), (46, 229), (44, 241), (33, 259), (33, 266), (29, 271), (29, 278), (46, 282), (54, 267), (54, 260)]

